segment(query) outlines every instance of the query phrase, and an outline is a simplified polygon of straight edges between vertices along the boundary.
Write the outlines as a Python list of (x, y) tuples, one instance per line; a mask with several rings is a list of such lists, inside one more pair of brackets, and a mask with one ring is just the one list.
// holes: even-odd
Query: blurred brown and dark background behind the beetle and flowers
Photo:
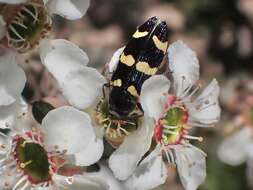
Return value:
[[(88, 54), (90, 66), (101, 69), (136, 27), (152, 16), (167, 22), (170, 42), (183, 40), (197, 53), (203, 84), (214, 77), (221, 84), (221, 122), (195, 131), (204, 137), (196, 146), (208, 155), (207, 178), (199, 189), (253, 189), (249, 164), (229, 166), (217, 157), (224, 139), (253, 123), (253, 0), (91, 0), (81, 20), (55, 17), (53, 37), (76, 43)], [(28, 101), (59, 93), (36, 53), (23, 67), (28, 75), (23, 94)], [(169, 171), (166, 184), (157, 190), (182, 189), (175, 168)]]

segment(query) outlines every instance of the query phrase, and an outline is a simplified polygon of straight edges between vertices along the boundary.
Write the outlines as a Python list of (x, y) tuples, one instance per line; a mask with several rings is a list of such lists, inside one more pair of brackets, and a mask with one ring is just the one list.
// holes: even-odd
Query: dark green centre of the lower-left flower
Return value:
[(50, 182), (50, 161), (46, 150), (40, 144), (26, 141), (23, 137), (16, 137), (14, 142), (15, 160), (30, 183)]

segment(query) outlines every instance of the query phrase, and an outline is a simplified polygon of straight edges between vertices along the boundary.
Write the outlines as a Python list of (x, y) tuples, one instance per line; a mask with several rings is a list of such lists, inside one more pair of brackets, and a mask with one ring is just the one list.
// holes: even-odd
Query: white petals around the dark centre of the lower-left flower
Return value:
[[(24, 165), (21, 166), (15, 157), (20, 154), (14, 143), (17, 137), (28, 143), (39, 144), (48, 157), (72, 157), (74, 159), (71, 163), (78, 166), (96, 163), (103, 153), (103, 142), (96, 138), (89, 116), (70, 106), (50, 111), (40, 126), (25, 122), (28, 105), (21, 98), (26, 82), (25, 74), (16, 64), (13, 54), (0, 57), (0, 65), (3, 72), (1, 77), (5, 76), (1, 80), (0, 189), (109, 189), (108, 183), (101, 176), (89, 173), (67, 177), (51, 170), (52, 179), (49, 183), (35, 184), (29, 180), (28, 174), (21, 169), (27, 163), (21, 163)], [(3, 129), (9, 129), (9, 134), (2, 133)], [(51, 159), (48, 162), (52, 164)]]

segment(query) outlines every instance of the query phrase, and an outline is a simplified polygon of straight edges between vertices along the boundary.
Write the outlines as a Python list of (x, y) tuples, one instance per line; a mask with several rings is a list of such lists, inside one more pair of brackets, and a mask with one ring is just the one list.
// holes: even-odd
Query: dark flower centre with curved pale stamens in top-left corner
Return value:
[(7, 46), (20, 53), (33, 49), (51, 30), (51, 18), (41, 1), (5, 5), (1, 12), (7, 23)]

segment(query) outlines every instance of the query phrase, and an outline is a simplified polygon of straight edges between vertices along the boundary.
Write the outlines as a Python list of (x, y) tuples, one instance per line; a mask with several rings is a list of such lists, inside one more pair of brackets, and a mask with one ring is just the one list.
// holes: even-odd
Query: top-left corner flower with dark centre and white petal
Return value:
[(0, 3), (5, 3), (0, 16), (0, 39), (7, 47), (24, 53), (49, 35), (53, 14), (80, 19), (90, 0), (0, 0)]

